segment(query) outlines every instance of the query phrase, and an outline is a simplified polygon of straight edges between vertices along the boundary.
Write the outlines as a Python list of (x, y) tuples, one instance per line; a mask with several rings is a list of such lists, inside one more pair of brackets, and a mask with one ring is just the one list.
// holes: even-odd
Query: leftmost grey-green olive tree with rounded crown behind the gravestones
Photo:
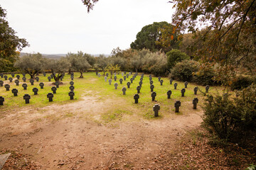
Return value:
[(43, 69), (43, 57), (40, 53), (24, 55), (18, 58), (14, 67), (29, 74), (31, 79), (35, 79), (35, 75)]

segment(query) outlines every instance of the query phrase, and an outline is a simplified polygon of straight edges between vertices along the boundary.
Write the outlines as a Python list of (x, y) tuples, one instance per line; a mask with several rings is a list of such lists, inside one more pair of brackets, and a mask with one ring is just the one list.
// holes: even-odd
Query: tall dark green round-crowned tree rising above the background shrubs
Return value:
[(176, 32), (174, 33), (174, 37), (172, 39), (166, 40), (165, 45), (168, 44), (169, 46), (161, 45), (161, 43), (158, 42), (161, 40), (161, 31), (167, 31), (167, 28), (170, 27), (172, 28), (171, 24), (167, 23), (166, 21), (160, 23), (154, 22), (153, 24), (144, 26), (142, 30), (137, 33), (136, 40), (131, 43), (131, 48), (134, 50), (142, 50), (146, 48), (151, 52), (156, 52), (159, 50), (164, 50), (164, 52), (167, 52), (170, 50), (170, 48), (177, 47), (178, 35), (176, 35)]

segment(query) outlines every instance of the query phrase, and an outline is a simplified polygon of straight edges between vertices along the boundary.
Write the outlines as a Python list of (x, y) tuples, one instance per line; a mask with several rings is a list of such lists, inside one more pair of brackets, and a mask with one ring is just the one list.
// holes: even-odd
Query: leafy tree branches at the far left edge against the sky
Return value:
[(19, 52), (28, 46), (23, 38), (18, 38), (14, 29), (6, 21), (6, 10), (0, 6), (0, 72), (14, 71), (14, 62)]

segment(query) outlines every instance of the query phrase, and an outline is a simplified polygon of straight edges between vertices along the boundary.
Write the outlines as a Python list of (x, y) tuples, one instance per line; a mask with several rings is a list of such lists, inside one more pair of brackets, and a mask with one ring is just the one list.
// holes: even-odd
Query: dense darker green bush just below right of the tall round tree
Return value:
[(166, 55), (167, 55), (167, 67), (169, 69), (174, 67), (175, 64), (178, 62), (190, 59), (185, 52), (181, 52), (180, 50), (176, 50), (176, 49), (167, 52)]

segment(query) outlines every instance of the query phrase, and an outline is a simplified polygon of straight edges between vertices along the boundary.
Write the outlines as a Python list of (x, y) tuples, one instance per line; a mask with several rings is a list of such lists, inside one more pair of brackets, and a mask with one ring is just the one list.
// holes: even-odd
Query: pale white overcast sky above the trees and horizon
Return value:
[(7, 21), (30, 47), (22, 52), (110, 54), (129, 48), (153, 22), (171, 23), (169, 0), (100, 0), (90, 13), (81, 0), (1, 0)]

